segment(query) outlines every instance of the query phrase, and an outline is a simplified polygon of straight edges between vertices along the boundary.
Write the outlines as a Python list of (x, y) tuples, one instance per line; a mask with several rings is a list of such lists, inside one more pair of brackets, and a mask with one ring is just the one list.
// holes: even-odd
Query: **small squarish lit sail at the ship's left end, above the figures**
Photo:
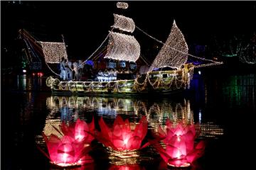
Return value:
[(61, 57), (68, 59), (64, 42), (39, 42), (47, 63), (59, 63)]

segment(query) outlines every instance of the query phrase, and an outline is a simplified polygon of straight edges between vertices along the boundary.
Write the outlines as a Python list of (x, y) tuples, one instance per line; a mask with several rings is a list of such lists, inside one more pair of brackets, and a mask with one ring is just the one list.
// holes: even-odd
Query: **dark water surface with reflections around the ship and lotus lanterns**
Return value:
[[(95, 120), (103, 116), (112, 123), (122, 115), (137, 122), (146, 115), (149, 130), (164, 125), (166, 118), (185, 118), (201, 125), (199, 138), (207, 145), (197, 169), (253, 169), (255, 71), (202, 73), (195, 72), (191, 89), (182, 94), (137, 98), (52, 96), (45, 77), (1, 77), (1, 168), (54, 169), (36, 144), (43, 145), (41, 132), (49, 135), (54, 132), (52, 125), (61, 121), (80, 118), (90, 123), (92, 116)], [(162, 169), (161, 157), (151, 147), (142, 150), (139, 164), (115, 167), (105, 148), (94, 145), (95, 163), (81, 169)]]

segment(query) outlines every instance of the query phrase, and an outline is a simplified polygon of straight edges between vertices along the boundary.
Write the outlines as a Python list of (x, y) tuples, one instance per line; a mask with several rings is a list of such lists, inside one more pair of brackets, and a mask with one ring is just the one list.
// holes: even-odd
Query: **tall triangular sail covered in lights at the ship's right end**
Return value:
[(149, 71), (163, 67), (180, 69), (181, 65), (185, 64), (187, 60), (188, 45), (181, 30), (174, 21), (169, 38), (167, 38), (159, 54), (151, 64)]

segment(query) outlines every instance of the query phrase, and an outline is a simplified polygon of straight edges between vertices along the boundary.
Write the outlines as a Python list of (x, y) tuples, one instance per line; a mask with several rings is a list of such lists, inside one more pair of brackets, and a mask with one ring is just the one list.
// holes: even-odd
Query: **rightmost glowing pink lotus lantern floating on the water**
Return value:
[(166, 132), (159, 127), (158, 133), (159, 139), (164, 139), (166, 149), (156, 142), (153, 145), (169, 166), (191, 166), (203, 154), (204, 142), (201, 141), (195, 145), (195, 125), (185, 125), (184, 123), (173, 125), (167, 120)]

